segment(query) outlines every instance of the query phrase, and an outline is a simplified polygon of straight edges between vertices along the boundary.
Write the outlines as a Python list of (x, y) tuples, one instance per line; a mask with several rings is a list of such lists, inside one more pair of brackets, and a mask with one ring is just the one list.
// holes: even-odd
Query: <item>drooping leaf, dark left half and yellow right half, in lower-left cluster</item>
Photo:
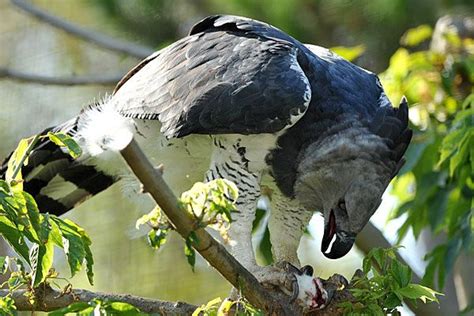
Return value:
[(44, 282), (49, 270), (53, 266), (54, 243), (34, 244), (30, 249), (32, 286), (36, 287)]

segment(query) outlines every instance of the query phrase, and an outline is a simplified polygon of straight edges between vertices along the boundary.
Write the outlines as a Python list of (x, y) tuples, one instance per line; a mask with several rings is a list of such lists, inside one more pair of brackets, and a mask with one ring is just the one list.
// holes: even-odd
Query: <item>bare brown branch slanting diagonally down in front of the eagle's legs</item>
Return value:
[(248, 272), (218, 241), (204, 229), (196, 229), (196, 223), (190, 214), (179, 207), (178, 200), (163, 180), (161, 174), (153, 168), (135, 140), (122, 150), (122, 156), (127, 161), (135, 175), (142, 182), (158, 205), (168, 216), (178, 233), (187, 238), (194, 231), (198, 242), (194, 248), (226, 278), (249, 302), (268, 314), (294, 314), (276, 301), (260, 285), (257, 279)]

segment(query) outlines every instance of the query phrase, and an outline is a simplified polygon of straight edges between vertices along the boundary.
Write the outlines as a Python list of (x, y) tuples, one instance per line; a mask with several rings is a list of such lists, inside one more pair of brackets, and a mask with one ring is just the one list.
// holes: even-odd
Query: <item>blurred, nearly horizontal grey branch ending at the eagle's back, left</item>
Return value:
[(0, 78), (37, 83), (43, 85), (77, 86), (77, 85), (110, 85), (113, 86), (123, 77), (123, 75), (110, 75), (104, 77), (97, 76), (76, 76), (76, 77), (48, 77), (24, 73), (21, 71), (0, 67)]

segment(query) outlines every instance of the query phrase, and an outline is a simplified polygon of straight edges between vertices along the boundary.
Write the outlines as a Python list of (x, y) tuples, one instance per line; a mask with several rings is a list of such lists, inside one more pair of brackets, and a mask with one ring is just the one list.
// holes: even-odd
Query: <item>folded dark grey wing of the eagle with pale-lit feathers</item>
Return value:
[(243, 19), (241, 29), (233, 19), (232, 27), (230, 20), (204, 20), (142, 62), (119, 83), (118, 110), (159, 119), (167, 137), (273, 133), (294, 123), (310, 97), (298, 48), (266, 37), (287, 37), (266, 24)]

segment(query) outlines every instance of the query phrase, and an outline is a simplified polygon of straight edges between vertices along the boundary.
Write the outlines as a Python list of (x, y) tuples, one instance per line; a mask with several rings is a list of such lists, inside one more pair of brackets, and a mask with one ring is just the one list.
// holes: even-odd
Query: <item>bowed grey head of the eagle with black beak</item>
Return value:
[[(402, 100), (402, 103), (405, 102)], [(387, 108), (397, 117), (399, 109)], [(404, 104), (400, 111), (407, 111)], [(299, 155), (293, 196), (308, 210), (321, 211), (321, 251), (331, 259), (346, 255), (357, 234), (379, 207), (382, 194), (403, 165), (411, 139), (405, 122), (388, 133), (386, 119), (367, 125), (342, 117), (347, 128), (328, 131)]]

